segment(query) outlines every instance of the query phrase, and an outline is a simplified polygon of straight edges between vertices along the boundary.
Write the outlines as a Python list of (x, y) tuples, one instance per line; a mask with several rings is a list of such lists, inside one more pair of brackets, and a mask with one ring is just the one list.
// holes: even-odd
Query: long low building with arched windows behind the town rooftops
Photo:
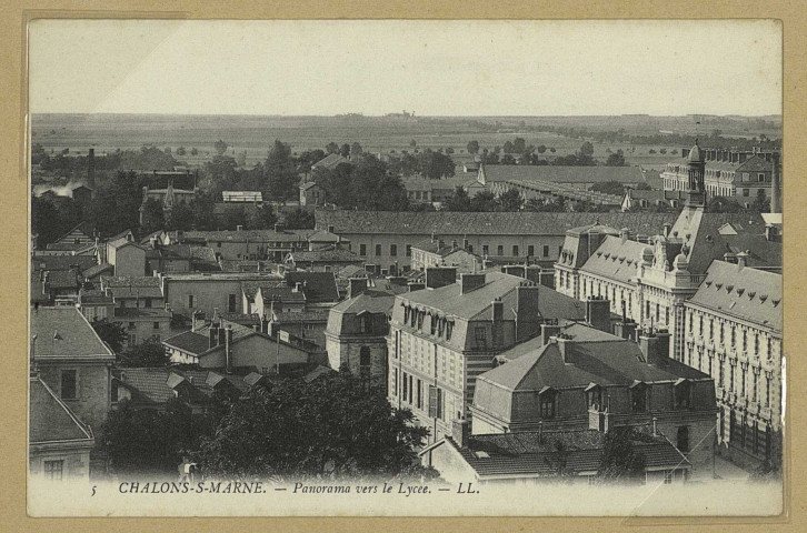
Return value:
[(446, 242), (467, 240), (468, 251), (481, 257), (557, 261), (566, 232), (572, 228), (599, 222), (649, 235), (676, 218), (675, 213), (316, 212), (317, 229), (347, 239), (348, 249), (365, 263), (389, 273), (409, 270), (411, 247), (432, 234)]

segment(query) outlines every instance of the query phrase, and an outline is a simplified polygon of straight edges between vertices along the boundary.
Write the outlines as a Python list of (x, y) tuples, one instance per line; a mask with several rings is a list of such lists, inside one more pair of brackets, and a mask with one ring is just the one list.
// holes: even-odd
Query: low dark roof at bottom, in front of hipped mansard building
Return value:
[[(461, 449), (451, 439), (447, 442), (459, 451), (480, 477), (519, 474), (554, 476), (558, 472), (559, 445), (568, 451), (564, 457), (567, 471), (580, 473), (599, 470), (605, 435), (596, 430), (471, 435), (468, 444)], [(690, 466), (686, 457), (662, 438), (640, 435), (635, 438), (634, 446), (645, 455), (646, 469)]]

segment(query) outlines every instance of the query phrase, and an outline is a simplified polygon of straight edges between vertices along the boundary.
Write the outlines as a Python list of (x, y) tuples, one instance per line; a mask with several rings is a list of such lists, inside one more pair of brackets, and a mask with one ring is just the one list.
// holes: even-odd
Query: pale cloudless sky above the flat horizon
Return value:
[(37, 20), (29, 43), (33, 113), (781, 113), (773, 20)]

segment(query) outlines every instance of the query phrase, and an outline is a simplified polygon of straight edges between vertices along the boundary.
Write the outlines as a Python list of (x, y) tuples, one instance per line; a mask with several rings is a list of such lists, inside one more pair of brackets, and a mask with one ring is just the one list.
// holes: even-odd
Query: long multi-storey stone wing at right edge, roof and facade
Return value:
[(741, 464), (778, 465), (783, 416), (781, 275), (714, 261), (684, 303), (684, 363), (711, 375), (718, 438)]

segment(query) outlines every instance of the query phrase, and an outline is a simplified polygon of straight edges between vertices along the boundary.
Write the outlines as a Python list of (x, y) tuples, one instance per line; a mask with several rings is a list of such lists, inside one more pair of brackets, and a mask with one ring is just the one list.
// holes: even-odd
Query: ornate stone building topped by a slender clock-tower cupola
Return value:
[(698, 290), (711, 261), (746, 261), (778, 270), (781, 245), (758, 213), (705, 212), (705, 162), (698, 147), (689, 152), (687, 201), (675, 224), (658, 234), (636, 235), (605, 224), (567, 234), (555, 264), (556, 288), (576, 299), (602, 296), (611, 311), (644, 328), (671, 331), (671, 355), (683, 355), (684, 302)]

